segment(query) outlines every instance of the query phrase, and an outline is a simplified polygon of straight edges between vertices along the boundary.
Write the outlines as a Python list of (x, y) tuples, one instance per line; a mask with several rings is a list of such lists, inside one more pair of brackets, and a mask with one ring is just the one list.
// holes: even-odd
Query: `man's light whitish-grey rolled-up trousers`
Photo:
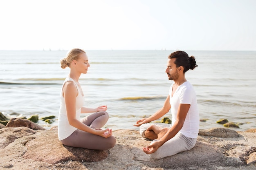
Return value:
[[(151, 125), (155, 125), (160, 128), (164, 128), (164, 127), (171, 128), (171, 124), (163, 124), (163, 123), (142, 124), (139, 127), (139, 132), (142, 137), (145, 137), (144, 132)], [(150, 144), (152, 144), (155, 141), (156, 140), (153, 140)], [(173, 138), (166, 141), (161, 147), (159, 147), (156, 152), (150, 154), (150, 157), (154, 159), (161, 159), (164, 157), (175, 155), (179, 152), (191, 150), (195, 146), (196, 141), (197, 141), (197, 138), (189, 138), (181, 133), (177, 133)]]

